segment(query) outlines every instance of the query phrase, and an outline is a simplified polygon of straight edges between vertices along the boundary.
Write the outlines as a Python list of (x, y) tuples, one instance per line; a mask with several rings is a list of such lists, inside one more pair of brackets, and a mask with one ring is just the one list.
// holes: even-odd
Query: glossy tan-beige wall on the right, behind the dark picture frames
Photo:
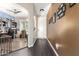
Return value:
[[(59, 55), (79, 55), (79, 4), (72, 8), (66, 5), (65, 16), (55, 24), (48, 24), (48, 39), (56, 47)], [(53, 14), (57, 10), (56, 6), (57, 4), (52, 5), (50, 13)], [(50, 13), (48, 12), (48, 20), (51, 17)]]

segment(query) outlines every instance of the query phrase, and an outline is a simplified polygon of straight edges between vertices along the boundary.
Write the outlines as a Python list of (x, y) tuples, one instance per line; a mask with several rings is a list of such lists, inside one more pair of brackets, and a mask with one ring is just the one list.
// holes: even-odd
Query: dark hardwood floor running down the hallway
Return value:
[(24, 48), (5, 56), (56, 56), (46, 39), (38, 39), (31, 48)]

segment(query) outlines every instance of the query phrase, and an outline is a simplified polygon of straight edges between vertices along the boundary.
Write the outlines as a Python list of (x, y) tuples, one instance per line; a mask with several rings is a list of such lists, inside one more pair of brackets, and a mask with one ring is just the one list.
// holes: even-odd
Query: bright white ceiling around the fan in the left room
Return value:
[[(9, 10), (19, 10), (21, 11), (20, 13), (13, 13), (10, 12)], [(14, 17), (26, 17), (28, 15), (27, 10), (25, 10), (23, 7), (21, 7), (20, 5), (16, 4), (16, 3), (0, 3), (0, 11), (5, 12), (7, 14), (10, 14)]]

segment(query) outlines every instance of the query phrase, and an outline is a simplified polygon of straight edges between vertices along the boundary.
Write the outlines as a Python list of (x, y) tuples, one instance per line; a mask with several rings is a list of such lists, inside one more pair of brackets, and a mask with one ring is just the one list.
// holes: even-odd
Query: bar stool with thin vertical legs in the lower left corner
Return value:
[(9, 35), (1, 36), (1, 55), (10, 53), (12, 51), (12, 39)]

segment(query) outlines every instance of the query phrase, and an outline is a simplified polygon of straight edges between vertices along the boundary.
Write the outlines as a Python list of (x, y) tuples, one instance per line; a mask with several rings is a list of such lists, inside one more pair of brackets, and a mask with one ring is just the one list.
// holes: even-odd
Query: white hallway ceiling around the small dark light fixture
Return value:
[[(34, 3), (35, 11), (37, 15), (46, 15), (49, 9), (49, 3)], [(40, 9), (43, 9), (44, 11), (40, 11)]]

